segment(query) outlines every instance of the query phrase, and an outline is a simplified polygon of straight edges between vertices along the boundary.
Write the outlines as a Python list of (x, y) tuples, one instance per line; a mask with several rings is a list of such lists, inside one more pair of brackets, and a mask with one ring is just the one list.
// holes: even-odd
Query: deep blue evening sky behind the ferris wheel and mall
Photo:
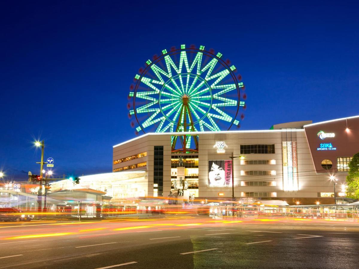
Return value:
[(35, 138), (46, 140), (57, 175), (111, 172), (112, 146), (135, 136), (126, 108), (134, 75), (180, 44), (214, 48), (236, 65), (248, 96), (241, 129), (359, 114), (358, 4), (155, 2), (0, 4), (7, 179), (38, 173)]

